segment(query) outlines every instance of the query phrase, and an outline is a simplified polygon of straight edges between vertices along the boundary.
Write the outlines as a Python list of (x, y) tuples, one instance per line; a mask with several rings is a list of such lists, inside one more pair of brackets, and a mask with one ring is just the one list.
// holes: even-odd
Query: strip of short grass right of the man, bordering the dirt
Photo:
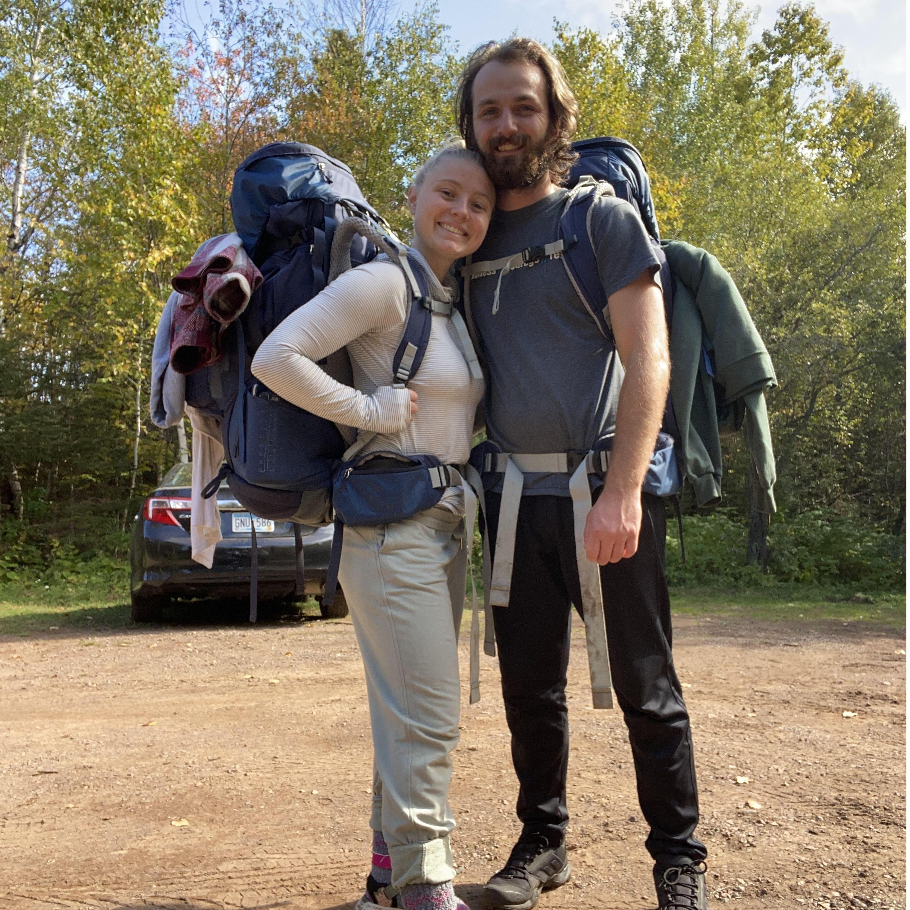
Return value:
[(810, 584), (764, 588), (674, 586), (672, 612), (683, 616), (743, 616), (779, 622), (840, 620), (906, 628), (906, 594)]

